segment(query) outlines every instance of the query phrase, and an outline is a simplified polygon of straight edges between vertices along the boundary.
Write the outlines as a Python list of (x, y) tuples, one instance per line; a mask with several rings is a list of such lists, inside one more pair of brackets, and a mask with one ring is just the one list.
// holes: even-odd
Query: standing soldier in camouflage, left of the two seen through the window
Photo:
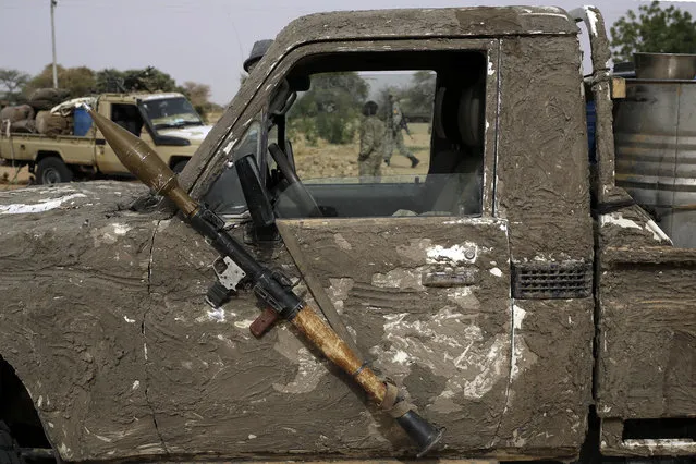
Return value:
[(379, 182), (383, 159), (384, 124), (377, 118), (377, 103), (368, 101), (363, 106), (365, 118), (361, 123), (361, 150), (357, 156), (361, 182), (376, 178)]

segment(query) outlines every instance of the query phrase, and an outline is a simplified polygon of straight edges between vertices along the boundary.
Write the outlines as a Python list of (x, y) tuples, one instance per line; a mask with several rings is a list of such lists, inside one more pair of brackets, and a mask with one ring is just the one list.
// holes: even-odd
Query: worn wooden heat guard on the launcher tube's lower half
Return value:
[(341, 338), (317, 316), (309, 306), (305, 305), (292, 319), (292, 323), (316, 345), (323, 355), (355, 378), (370, 399), (378, 404), (384, 399), (387, 388), (377, 375), (366, 367)]

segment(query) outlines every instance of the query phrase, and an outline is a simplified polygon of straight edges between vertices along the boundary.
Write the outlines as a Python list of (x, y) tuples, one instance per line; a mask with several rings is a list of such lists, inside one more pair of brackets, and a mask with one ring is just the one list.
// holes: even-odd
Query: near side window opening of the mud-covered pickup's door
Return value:
[[(376, 58), (325, 57), (290, 75), (289, 82), (308, 76), (309, 89), (273, 120), (286, 127), (279, 145), (297, 176), (325, 216), (479, 215), (485, 54)], [(404, 69), (411, 63), (419, 66)], [(343, 69), (326, 73), (322, 66)], [(280, 188), (278, 215), (302, 217)]]

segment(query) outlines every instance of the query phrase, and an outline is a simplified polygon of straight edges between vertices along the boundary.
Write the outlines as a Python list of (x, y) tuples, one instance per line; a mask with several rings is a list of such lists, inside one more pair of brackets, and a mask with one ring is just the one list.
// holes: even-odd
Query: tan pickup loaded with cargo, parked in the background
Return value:
[[(181, 94), (102, 94), (97, 98), (97, 111), (152, 146), (176, 172), (211, 127)], [(129, 174), (94, 124), (84, 136), (3, 131), (0, 158), (13, 166), (28, 164), (39, 184)]]

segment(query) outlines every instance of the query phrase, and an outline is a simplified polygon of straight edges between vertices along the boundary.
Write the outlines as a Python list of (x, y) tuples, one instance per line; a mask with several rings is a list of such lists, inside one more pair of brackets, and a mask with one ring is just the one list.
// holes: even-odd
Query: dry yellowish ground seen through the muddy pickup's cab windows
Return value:
[[(404, 145), (420, 160), (415, 168), (411, 168), (411, 160), (400, 155), (395, 149), (391, 164), (382, 164), (382, 176), (394, 175), (425, 175), (428, 172), (430, 157), (430, 134), (427, 123), (408, 124), (411, 135), (403, 132)], [(357, 152), (359, 143), (357, 135), (353, 144), (333, 145), (319, 141), (316, 146), (309, 146), (304, 139), (293, 142), (293, 154), (300, 179), (327, 178), (357, 178)]]

